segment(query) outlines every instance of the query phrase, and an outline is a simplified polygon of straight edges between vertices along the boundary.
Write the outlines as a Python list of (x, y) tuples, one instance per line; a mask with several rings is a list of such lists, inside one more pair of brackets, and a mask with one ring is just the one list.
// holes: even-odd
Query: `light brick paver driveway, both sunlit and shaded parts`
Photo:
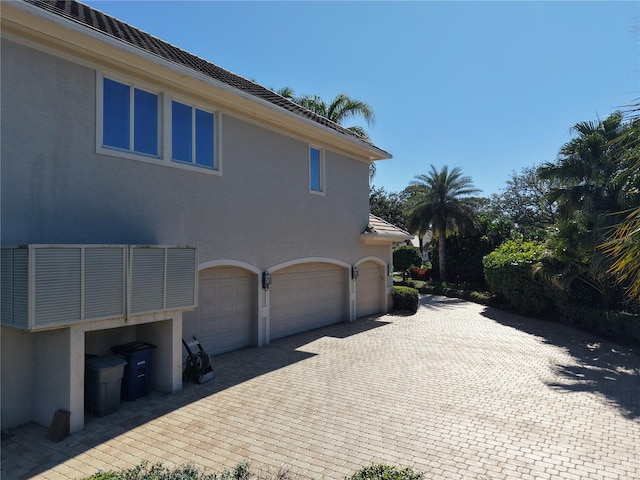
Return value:
[(640, 478), (637, 354), (473, 303), (421, 302), (414, 316), (214, 357), (212, 382), (123, 403), (60, 443), (16, 429), (2, 479), (142, 460), (327, 479), (374, 462), (438, 479)]

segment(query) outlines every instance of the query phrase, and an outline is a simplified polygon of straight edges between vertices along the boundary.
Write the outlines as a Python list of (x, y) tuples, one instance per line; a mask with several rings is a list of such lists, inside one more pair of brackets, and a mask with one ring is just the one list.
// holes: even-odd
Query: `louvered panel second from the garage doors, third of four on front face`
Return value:
[(131, 249), (131, 313), (164, 308), (164, 248)]

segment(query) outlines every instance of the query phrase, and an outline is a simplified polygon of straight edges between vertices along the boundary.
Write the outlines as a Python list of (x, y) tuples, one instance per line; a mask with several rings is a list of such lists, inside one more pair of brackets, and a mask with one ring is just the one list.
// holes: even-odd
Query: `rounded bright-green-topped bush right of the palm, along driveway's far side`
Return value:
[(557, 289), (535, 277), (533, 270), (544, 252), (544, 244), (518, 239), (508, 240), (483, 258), (487, 284), (499, 301), (525, 315), (539, 316), (553, 308)]

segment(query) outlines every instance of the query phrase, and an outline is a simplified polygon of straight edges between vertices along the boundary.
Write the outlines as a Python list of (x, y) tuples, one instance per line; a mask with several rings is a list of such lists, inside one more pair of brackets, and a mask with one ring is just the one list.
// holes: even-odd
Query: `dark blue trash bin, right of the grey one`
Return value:
[(136, 400), (149, 395), (151, 354), (155, 345), (145, 342), (129, 342), (111, 347), (111, 351), (127, 361), (122, 378), (122, 399)]

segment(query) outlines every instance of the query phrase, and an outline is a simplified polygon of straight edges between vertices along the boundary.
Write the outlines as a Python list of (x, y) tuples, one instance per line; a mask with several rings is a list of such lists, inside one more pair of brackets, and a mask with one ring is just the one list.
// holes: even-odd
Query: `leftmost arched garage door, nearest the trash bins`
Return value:
[(257, 335), (256, 282), (242, 268), (201, 271), (198, 308), (182, 316), (184, 338), (195, 335), (211, 355), (251, 346)]

